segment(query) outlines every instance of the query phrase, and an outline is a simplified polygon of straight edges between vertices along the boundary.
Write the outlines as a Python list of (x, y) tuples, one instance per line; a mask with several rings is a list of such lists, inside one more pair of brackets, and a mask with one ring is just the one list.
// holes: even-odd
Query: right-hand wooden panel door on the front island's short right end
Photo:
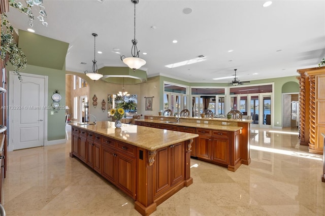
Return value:
[(179, 181), (184, 180), (184, 164), (185, 164), (185, 158), (184, 158), (184, 142), (180, 142), (177, 144), (174, 144), (170, 148), (171, 153), (171, 186), (176, 184)]

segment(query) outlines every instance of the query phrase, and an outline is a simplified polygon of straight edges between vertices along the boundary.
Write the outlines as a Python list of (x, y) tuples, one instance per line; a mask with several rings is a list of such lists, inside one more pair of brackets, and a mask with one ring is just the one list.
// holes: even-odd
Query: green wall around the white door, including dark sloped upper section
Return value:
[[(57, 89), (62, 96), (61, 106), (66, 105), (66, 64), (65, 59), (69, 44), (41, 35), (19, 30), (18, 47), (24, 52), (27, 58), (26, 69), (20, 71), (26, 74), (48, 76), (48, 106), (52, 105), (52, 95)], [(9, 63), (7, 72), (13, 71)], [(9, 82), (8, 82), (9, 83)], [(66, 138), (65, 110), (60, 110), (54, 115), (47, 110), (47, 140)], [(10, 118), (10, 117), (9, 117)]]

